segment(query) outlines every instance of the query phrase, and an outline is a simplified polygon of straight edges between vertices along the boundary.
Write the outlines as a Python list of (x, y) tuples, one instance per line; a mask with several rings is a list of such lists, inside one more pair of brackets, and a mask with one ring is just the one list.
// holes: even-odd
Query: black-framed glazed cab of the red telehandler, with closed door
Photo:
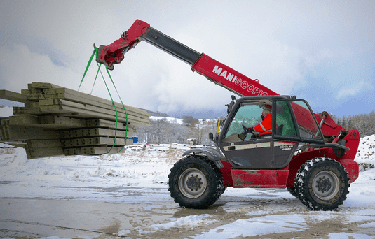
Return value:
[[(285, 168), (296, 149), (325, 141), (308, 103), (290, 96), (232, 97), (217, 146), (234, 168)], [(262, 122), (264, 109), (272, 113), (272, 133), (256, 136), (249, 127)], [(298, 115), (299, 117), (296, 117)]]

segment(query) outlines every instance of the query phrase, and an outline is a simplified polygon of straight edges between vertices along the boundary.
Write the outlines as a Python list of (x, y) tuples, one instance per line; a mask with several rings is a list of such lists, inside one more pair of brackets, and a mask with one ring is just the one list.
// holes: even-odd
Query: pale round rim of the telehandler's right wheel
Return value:
[(332, 171), (321, 171), (313, 179), (313, 192), (322, 200), (334, 198), (339, 189), (339, 177)]

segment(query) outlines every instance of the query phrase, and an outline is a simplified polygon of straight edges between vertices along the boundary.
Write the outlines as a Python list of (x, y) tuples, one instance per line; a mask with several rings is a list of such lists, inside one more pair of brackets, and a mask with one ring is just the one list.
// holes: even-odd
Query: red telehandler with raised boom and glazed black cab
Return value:
[[(311, 210), (334, 210), (343, 203), (359, 174), (357, 130), (343, 129), (327, 112), (315, 114), (306, 101), (280, 96), (141, 20), (111, 45), (100, 45), (96, 61), (113, 70), (142, 40), (240, 96), (232, 96), (216, 136), (209, 135), (216, 148), (187, 150), (170, 170), (169, 191), (176, 203), (208, 208), (226, 187), (286, 188)], [(259, 123), (266, 108), (272, 133), (254, 137), (249, 127)]]

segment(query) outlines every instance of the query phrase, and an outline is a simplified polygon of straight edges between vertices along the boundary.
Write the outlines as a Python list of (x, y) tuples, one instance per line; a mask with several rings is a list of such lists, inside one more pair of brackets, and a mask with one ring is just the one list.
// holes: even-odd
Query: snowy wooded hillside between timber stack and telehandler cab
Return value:
[(142, 143), (186, 143), (188, 138), (195, 138), (198, 144), (212, 144), (208, 133), (216, 131), (216, 123), (199, 122), (184, 115), (183, 124), (172, 124), (166, 118), (150, 120), (151, 126), (139, 127), (138, 140)]

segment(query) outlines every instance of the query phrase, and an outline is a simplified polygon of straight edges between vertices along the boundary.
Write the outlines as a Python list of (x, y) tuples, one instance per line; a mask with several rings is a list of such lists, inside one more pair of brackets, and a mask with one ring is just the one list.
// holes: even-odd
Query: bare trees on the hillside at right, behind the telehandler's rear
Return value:
[(360, 131), (361, 137), (375, 134), (375, 110), (372, 110), (369, 114), (332, 116), (332, 119), (343, 128), (357, 129), (357, 131)]

